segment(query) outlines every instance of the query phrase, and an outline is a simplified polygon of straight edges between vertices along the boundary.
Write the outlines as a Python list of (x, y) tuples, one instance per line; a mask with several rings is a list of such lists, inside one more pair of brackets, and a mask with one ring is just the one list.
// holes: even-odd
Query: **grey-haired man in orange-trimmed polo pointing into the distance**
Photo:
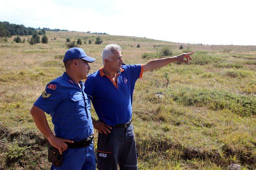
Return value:
[[(85, 92), (92, 100), (99, 120), (97, 166), (99, 170), (137, 170), (137, 151), (132, 118), (132, 96), (135, 82), (143, 72), (174, 61), (189, 63), (191, 53), (156, 59), (145, 64), (123, 64), (121, 47), (107, 45), (102, 52), (104, 67), (88, 76)], [(186, 58), (186, 60), (184, 60)]]

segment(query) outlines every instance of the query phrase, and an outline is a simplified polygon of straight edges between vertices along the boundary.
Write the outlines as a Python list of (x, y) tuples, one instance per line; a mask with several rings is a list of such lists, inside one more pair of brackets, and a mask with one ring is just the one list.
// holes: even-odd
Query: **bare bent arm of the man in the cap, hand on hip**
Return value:
[(68, 148), (68, 145), (65, 142), (73, 143), (73, 141), (69, 139), (63, 139), (59, 138), (53, 135), (48, 122), (46, 120), (44, 111), (40, 109), (39, 107), (33, 106), (30, 110), (30, 114), (32, 115), (34, 122), (36, 123), (37, 128), (40, 130), (40, 132), (48, 139), (50, 144), (54, 147), (56, 147), (60, 154), (64, 152)]

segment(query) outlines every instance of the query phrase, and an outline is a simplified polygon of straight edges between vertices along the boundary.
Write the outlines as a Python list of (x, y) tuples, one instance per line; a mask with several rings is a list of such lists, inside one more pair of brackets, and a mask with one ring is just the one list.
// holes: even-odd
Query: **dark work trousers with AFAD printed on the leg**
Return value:
[(97, 167), (99, 170), (138, 170), (133, 126), (110, 129), (98, 134)]

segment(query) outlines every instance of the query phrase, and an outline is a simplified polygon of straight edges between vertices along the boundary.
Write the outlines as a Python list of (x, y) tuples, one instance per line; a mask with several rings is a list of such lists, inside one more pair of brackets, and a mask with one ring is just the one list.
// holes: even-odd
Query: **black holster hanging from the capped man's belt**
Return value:
[(61, 166), (63, 160), (63, 155), (60, 154), (59, 150), (52, 145), (48, 147), (48, 161), (55, 166)]

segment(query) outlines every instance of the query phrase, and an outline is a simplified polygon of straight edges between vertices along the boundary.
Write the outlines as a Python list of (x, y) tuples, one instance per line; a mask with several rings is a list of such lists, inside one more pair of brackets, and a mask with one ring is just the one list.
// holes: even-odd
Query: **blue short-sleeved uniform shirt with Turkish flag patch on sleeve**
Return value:
[(83, 82), (79, 84), (82, 89), (64, 72), (46, 85), (34, 103), (52, 116), (57, 137), (81, 141), (93, 132), (90, 99), (84, 92)]

